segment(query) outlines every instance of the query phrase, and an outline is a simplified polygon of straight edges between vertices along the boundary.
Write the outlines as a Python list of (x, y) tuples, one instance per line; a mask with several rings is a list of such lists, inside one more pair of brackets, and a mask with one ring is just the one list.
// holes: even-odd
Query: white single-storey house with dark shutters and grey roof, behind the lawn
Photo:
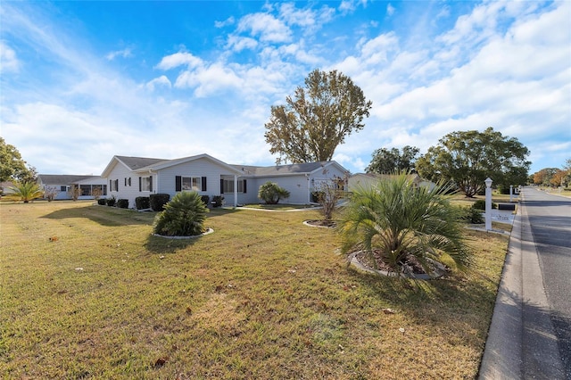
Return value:
[(267, 181), (290, 192), (290, 197), (280, 202), (307, 204), (320, 181), (348, 174), (335, 161), (258, 167), (230, 165), (199, 154), (176, 160), (113, 156), (101, 177), (106, 179), (109, 196), (128, 199), (128, 207), (134, 208), (138, 196), (170, 194), (172, 198), (181, 191), (211, 198), (222, 195), (228, 205), (257, 203), (258, 190)]

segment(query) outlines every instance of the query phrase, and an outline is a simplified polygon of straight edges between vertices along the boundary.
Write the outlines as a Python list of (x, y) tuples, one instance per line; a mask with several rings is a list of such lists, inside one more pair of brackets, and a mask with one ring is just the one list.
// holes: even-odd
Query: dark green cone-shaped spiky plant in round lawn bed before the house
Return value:
[(200, 235), (204, 232), (206, 212), (208, 209), (198, 193), (178, 193), (155, 217), (153, 231), (167, 236)]

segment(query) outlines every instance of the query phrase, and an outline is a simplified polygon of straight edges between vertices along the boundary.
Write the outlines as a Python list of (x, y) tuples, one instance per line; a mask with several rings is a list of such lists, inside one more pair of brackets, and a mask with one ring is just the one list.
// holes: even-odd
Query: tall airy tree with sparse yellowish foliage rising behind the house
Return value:
[(277, 161), (330, 161), (346, 136), (364, 128), (372, 103), (352, 79), (336, 70), (313, 70), (285, 104), (271, 107), (265, 128)]

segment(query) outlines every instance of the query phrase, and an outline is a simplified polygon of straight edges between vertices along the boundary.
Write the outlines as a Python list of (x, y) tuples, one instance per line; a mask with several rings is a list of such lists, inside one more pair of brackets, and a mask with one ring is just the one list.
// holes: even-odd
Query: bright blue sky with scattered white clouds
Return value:
[(270, 106), (311, 70), (373, 102), (334, 160), (425, 153), (447, 133), (517, 137), (531, 173), (571, 158), (571, 2), (0, 3), (0, 128), (44, 174), (113, 155), (272, 165)]

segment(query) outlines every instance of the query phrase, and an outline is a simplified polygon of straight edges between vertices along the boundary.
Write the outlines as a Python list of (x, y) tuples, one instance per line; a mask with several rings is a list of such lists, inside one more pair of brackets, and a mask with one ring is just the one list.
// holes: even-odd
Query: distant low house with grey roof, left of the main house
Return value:
[(72, 186), (79, 186), (81, 193), (79, 199), (94, 199), (94, 189), (99, 188), (101, 197), (107, 195), (107, 185), (105, 179), (100, 176), (75, 176), (69, 174), (39, 174), (37, 184), (42, 191), (53, 190), (54, 199), (71, 199), (70, 189)]

